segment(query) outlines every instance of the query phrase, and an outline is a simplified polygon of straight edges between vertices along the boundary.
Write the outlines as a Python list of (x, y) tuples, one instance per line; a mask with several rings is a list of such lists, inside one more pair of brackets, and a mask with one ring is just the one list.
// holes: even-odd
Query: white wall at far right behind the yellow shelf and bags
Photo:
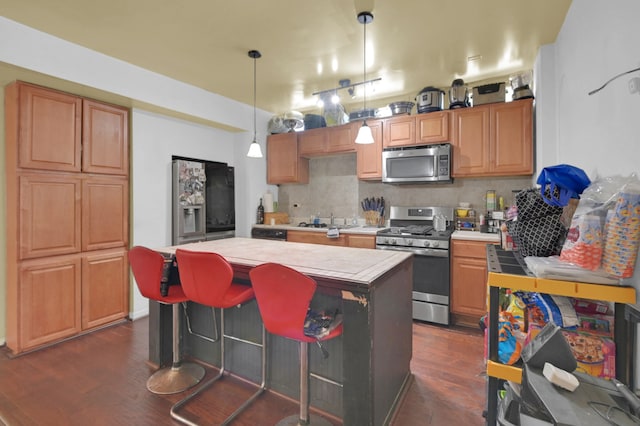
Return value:
[[(592, 179), (640, 172), (640, 94), (628, 89), (629, 79), (640, 72), (588, 95), (610, 78), (640, 67), (638, 16), (637, 0), (574, 1), (556, 43), (540, 50), (535, 68), (541, 89), (536, 92), (538, 173), (561, 163), (582, 168)], [(627, 280), (638, 293), (639, 265)], [(638, 388), (638, 343), (635, 354)]]

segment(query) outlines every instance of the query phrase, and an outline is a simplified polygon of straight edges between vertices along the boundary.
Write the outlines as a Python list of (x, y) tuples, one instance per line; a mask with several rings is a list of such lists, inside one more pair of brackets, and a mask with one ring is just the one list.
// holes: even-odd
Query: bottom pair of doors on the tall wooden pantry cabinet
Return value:
[(75, 336), (128, 314), (129, 269), (124, 248), (25, 260), (19, 267), (19, 279), (17, 293), (9, 294), (7, 304), (7, 346), (14, 353)]

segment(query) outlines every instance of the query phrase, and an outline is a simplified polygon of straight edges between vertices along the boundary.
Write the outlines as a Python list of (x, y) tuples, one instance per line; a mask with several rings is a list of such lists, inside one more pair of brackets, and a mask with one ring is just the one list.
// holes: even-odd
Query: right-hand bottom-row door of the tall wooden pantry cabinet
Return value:
[(82, 329), (127, 316), (129, 274), (126, 250), (103, 250), (82, 256)]

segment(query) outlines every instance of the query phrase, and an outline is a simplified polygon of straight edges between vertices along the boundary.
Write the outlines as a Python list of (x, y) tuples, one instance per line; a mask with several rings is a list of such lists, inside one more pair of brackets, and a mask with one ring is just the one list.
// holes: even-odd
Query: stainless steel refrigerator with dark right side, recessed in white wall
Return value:
[(234, 169), (173, 157), (173, 244), (235, 236)]

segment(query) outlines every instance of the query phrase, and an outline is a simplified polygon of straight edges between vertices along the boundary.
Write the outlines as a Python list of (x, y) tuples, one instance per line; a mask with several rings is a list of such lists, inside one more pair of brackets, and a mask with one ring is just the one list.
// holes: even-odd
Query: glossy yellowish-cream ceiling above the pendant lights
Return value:
[[(368, 106), (425, 86), (530, 70), (570, 0), (3, 0), (0, 14), (73, 43), (274, 113), (317, 110), (312, 93), (381, 78)], [(476, 58), (469, 61), (468, 58)], [(321, 71), (320, 71), (321, 69)], [(347, 99), (348, 110), (362, 99)], [(354, 103), (355, 102), (355, 103)], [(351, 104), (351, 105), (350, 105)], [(351, 107), (351, 108), (350, 108)]]

